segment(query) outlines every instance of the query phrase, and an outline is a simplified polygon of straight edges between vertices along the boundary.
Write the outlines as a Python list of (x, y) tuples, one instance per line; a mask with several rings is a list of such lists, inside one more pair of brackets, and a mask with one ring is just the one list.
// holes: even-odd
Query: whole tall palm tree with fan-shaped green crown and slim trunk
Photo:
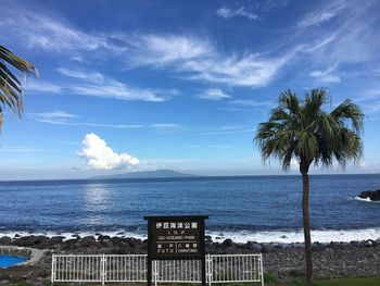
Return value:
[(290, 90), (282, 92), (278, 107), (271, 110), (268, 122), (259, 123), (255, 136), (264, 161), (278, 159), (286, 171), (292, 160), (300, 165), (307, 285), (313, 285), (309, 166), (313, 163), (332, 166), (333, 161), (338, 161), (344, 167), (349, 161), (356, 163), (363, 156), (360, 108), (347, 99), (327, 112), (322, 107), (328, 98), (326, 88), (309, 90), (304, 100)]

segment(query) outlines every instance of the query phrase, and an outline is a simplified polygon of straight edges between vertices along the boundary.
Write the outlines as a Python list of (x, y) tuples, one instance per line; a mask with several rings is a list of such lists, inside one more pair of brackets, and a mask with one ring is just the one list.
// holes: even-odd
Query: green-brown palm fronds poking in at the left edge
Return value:
[(18, 115), (21, 115), (23, 111), (23, 84), (9, 70), (7, 64), (12, 65), (25, 76), (38, 75), (33, 64), (0, 46), (0, 127), (2, 126), (4, 107), (9, 107)]

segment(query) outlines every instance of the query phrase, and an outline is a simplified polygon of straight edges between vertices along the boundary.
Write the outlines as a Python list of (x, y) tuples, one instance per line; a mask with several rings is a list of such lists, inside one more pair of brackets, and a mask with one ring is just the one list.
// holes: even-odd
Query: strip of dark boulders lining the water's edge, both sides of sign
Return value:
[[(205, 235), (206, 249), (211, 253), (224, 253), (224, 250), (228, 250), (229, 247), (233, 247), (236, 250), (254, 250), (254, 252), (273, 252), (276, 249), (295, 249), (303, 248), (304, 244), (296, 243), (278, 243), (278, 241), (253, 241), (249, 240), (246, 243), (238, 243), (231, 238), (224, 238), (219, 240), (213, 239), (212, 236)], [(330, 243), (319, 243), (313, 241), (313, 250), (315, 249), (327, 249), (330, 247), (380, 247), (380, 237), (377, 239), (363, 239), (363, 240), (351, 240), (351, 241), (330, 241)], [(130, 237), (125, 235), (114, 235), (110, 236), (106, 234), (97, 234), (97, 235), (86, 235), (80, 236), (78, 234), (72, 234), (71, 237), (64, 237), (60, 235), (46, 236), (29, 234), (26, 236), (0, 236), (0, 246), (11, 246), (11, 247), (31, 247), (37, 249), (49, 249), (49, 250), (68, 250), (75, 251), (84, 250), (84, 253), (87, 253), (90, 248), (90, 252), (96, 249), (112, 249), (114, 247), (127, 247), (134, 252), (136, 250), (142, 251), (141, 253), (147, 252), (148, 239)], [(128, 250), (128, 249), (124, 249)], [(221, 252), (220, 252), (221, 251)], [(232, 252), (233, 252), (232, 251)], [(94, 251), (99, 252), (99, 251)], [(106, 251), (109, 252), (109, 251)], [(128, 252), (128, 251), (127, 251)], [(228, 252), (228, 251), (227, 251)], [(138, 252), (136, 252), (138, 253)]]

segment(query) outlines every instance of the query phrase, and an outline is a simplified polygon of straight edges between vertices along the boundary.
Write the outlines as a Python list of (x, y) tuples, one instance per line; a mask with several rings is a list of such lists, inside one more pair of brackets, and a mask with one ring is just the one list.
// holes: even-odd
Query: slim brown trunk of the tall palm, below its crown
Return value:
[(306, 258), (306, 285), (313, 285), (313, 258), (312, 258), (312, 238), (311, 238), (311, 217), (308, 211), (309, 179), (307, 172), (302, 172), (302, 214), (305, 239)]

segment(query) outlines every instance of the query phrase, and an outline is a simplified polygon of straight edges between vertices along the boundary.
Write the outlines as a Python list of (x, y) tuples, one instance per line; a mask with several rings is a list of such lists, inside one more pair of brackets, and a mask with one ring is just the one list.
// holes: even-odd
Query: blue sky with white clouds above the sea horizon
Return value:
[(255, 129), (314, 87), (366, 119), (363, 161), (312, 173), (380, 172), (379, 1), (0, 3), (0, 45), (39, 71), (22, 117), (5, 110), (0, 179), (283, 174)]

